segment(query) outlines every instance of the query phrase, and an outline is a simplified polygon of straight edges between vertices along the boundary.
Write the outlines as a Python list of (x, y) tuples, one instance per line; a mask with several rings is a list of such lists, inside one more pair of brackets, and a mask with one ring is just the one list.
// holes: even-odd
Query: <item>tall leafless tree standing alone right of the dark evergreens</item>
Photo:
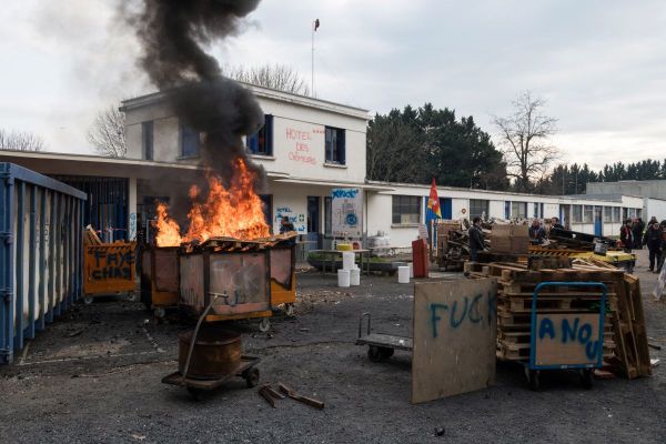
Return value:
[(559, 155), (548, 142), (557, 131), (557, 119), (542, 112), (545, 104), (544, 99), (526, 91), (513, 101), (513, 114), (493, 120), (500, 130), (508, 175), (515, 178), (519, 191), (528, 191), (531, 180), (542, 178)]

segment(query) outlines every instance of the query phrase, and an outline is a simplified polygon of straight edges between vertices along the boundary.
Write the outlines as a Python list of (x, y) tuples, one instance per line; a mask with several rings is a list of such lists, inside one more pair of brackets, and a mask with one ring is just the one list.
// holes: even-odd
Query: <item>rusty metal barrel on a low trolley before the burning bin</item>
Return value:
[[(178, 367), (181, 374), (192, 343), (193, 330), (178, 335)], [(221, 325), (203, 324), (190, 361), (186, 377), (216, 380), (235, 373), (241, 363), (241, 335)]]

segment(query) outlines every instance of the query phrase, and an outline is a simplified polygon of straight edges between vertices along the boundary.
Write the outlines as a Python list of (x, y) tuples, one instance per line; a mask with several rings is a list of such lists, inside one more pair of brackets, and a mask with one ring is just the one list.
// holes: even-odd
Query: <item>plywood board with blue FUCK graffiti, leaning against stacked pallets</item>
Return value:
[(494, 279), (414, 284), (412, 403), (495, 383)]

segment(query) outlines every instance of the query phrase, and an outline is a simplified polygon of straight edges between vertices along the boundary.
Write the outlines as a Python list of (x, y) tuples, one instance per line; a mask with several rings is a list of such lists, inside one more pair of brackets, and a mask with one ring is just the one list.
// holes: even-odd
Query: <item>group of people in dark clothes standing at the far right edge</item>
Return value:
[(627, 219), (619, 231), (619, 241), (626, 251), (640, 250), (647, 246), (649, 250), (649, 271), (659, 273), (664, 259), (666, 258), (666, 220), (657, 221), (653, 216), (647, 223), (638, 218), (634, 221)]

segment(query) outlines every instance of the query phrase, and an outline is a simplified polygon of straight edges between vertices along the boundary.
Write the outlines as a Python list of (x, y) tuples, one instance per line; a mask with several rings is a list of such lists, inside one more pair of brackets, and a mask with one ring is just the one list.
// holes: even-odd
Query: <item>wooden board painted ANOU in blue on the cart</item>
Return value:
[(596, 364), (598, 361), (598, 314), (537, 314), (533, 334), (536, 334), (536, 365)]

